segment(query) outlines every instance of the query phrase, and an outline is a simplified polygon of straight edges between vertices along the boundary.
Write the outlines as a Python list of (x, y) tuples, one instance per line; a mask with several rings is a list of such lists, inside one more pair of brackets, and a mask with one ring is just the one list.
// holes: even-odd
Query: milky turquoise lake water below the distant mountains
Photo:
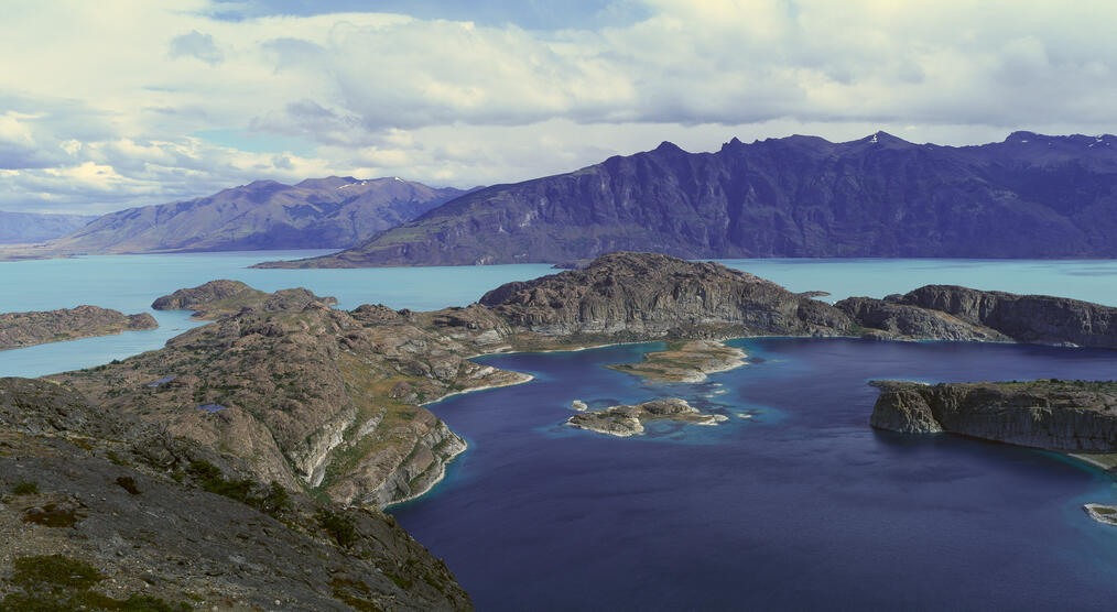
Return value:
[[(133, 314), (151, 313), (160, 328), (0, 352), (0, 375), (41, 376), (89, 367), (163, 346), (198, 325), (188, 313), (159, 313), (151, 303), (183, 287), (217, 278), (274, 291), (306, 287), (334, 296), (340, 308), (382, 303), (432, 310), (465, 306), (510, 280), (554, 274), (546, 265), (257, 270), (271, 259), (298, 259), (325, 250), (135, 255), (0, 262), (0, 313), (71, 308), (93, 304)], [(1117, 261), (971, 259), (733, 259), (723, 264), (794, 291), (824, 290), (834, 302), (851, 295), (884, 297), (927, 284), (1054, 294), (1117, 306)]]

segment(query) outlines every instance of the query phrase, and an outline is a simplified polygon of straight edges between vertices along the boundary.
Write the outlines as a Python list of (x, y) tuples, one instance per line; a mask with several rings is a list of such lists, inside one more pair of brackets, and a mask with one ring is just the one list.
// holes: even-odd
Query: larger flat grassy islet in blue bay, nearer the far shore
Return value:
[(748, 355), (720, 342), (695, 340), (668, 343), (666, 351), (645, 353), (640, 363), (608, 365), (610, 370), (643, 376), (652, 382), (699, 383), (707, 374), (745, 365)]

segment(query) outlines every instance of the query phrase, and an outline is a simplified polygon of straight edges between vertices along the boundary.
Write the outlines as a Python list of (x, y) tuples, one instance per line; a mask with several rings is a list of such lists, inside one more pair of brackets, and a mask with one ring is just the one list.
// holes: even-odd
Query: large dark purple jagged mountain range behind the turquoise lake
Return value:
[(355, 248), (264, 267), (685, 258), (1117, 257), (1117, 137), (1014, 132), (978, 146), (878, 132), (714, 153), (659, 147), (494, 185)]

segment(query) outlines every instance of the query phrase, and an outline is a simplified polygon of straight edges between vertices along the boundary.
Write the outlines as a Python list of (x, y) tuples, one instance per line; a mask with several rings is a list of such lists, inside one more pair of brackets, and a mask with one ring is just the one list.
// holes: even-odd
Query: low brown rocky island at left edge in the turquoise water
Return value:
[(120, 310), (87, 305), (58, 310), (6, 313), (0, 314), (0, 351), (155, 327), (159, 324), (147, 313), (125, 315)]

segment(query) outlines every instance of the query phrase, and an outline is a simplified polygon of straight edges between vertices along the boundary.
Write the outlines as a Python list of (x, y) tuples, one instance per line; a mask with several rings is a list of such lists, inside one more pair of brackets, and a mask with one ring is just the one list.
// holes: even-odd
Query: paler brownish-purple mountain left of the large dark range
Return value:
[(466, 191), (398, 176), (255, 181), (207, 198), (105, 214), (45, 255), (344, 248)]

